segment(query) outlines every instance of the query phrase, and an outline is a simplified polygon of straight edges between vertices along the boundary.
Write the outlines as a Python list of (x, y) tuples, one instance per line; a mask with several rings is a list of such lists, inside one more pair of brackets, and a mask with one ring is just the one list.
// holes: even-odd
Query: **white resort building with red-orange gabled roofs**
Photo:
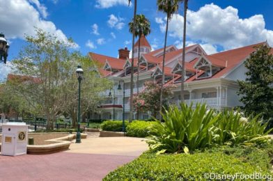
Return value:
[[(138, 41), (134, 45), (134, 93), (137, 93)], [(256, 45), (266, 43), (260, 42)], [(163, 48), (152, 51), (145, 36), (140, 38), (140, 45), (139, 91), (142, 91), (146, 81), (158, 82), (162, 79)], [(247, 69), (244, 67), (244, 61), (251, 52), (255, 51), (256, 45), (210, 55), (200, 45), (186, 47), (185, 102), (187, 104), (206, 102), (209, 107), (218, 110), (240, 106), (237, 80), (246, 78)], [(130, 51), (125, 47), (125, 49), (119, 49), (118, 53), (118, 58), (93, 52), (88, 54), (92, 61), (98, 61), (102, 65), (100, 69), (102, 76), (114, 83), (111, 90), (102, 93), (108, 98), (100, 105), (100, 111), (92, 115), (93, 119), (121, 120), (123, 118), (123, 91), (118, 91), (120, 81), (125, 82), (125, 119), (129, 118), (131, 59), (128, 57)], [(170, 100), (175, 104), (180, 102), (180, 79), (183, 69), (181, 63), (182, 49), (174, 45), (166, 47), (165, 84), (176, 85), (176, 88), (173, 89), (173, 99)], [(147, 119), (149, 115), (140, 113), (139, 118)]]

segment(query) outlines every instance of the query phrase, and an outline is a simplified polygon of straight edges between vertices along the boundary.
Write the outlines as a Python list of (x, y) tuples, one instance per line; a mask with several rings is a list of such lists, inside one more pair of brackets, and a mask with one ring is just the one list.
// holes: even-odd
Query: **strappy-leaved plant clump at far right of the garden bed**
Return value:
[(267, 124), (259, 119), (260, 116), (244, 118), (240, 113), (224, 111), (219, 113), (219, 120), (214, 124), (217, 129), (215, 143), (220, 145), (250, 145), (267, 143), (267, 134), (272, 130), (265, 131)]

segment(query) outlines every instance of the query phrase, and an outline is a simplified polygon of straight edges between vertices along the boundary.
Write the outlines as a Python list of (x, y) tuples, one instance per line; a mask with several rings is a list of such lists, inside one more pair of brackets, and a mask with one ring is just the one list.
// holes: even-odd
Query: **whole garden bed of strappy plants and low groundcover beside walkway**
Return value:
[[(266, 180), (273, 145), (259, 116), (181, 104), (148, 127), (148, 152), (104, 180)], [(128, 126), (127, 126), (128, 127)], [(258, 176), (257, 176), (258, 175)], [(255, 178), (253, 178), (255, 176)]]

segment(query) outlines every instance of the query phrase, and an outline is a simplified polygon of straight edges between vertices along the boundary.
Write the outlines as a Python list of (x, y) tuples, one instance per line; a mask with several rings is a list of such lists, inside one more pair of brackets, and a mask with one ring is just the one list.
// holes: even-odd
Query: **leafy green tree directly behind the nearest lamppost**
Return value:
[[(72, 68), (77, 67), (79, 63), (84, 70), (84, 80), (81, 84), (81, 116), (86, 115), (88, 111), (95, 112), (102, 100), (100, 93), (111, 88), (111, 83), (108, 79), (100, 77), (100, 73), (96, 67), (98, 65), (95, 61), (91, 61), (86, 56), (77, 54)], [(63, 100), (62, 113), (67, 113), (72, 119), (73, 127), (77, 126), (77, 111), (78, 111), (78, 81), (75, 69), (72, 69), (68, 80), (61, 86), (61, 93)]]

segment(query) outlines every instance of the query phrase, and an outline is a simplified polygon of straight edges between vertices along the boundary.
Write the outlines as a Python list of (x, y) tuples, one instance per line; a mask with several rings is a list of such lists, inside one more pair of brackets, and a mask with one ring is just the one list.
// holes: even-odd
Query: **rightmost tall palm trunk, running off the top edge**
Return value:
[(186, 52), (186, 26), (187, 26), (187, 0), (184, 1), (184, 27), (183, 27), (183, 52), (181, 72), (181, 102), (184, 102), (184, 81), (185, 81), (185, 52)]

